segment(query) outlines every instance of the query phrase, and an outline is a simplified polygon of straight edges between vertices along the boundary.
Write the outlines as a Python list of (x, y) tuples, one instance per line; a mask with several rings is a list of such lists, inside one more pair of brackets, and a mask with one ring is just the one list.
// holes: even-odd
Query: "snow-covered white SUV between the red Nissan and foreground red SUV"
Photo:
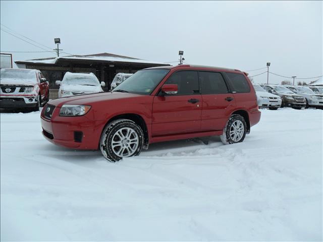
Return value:
[(62, 81), (56, 81), (60, 85), (59, 97), (68, 97), (80, 94), (103, 92), (104, 82), (99, 82), (93, 73), (67, 72)]

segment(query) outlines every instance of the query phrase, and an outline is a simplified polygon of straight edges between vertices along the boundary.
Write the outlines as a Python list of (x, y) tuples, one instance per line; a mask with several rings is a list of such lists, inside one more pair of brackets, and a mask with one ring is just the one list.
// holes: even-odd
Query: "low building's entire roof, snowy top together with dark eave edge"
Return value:
[(170, 66), (169, 64), (161, 62), (147, 61), (124, 55), (111, 54), (111, 53), (97, 53), (87, 55), (68, 55), (62, 57), (50, 57), (29, 59), (26, 61), (16, 61), (16, 64), (44, 64), (44, 65), (59, 65), (64, 62), (78, 62), (78, 63), (97, 63), (97, 64), (135, 64), (135, 65), (152, 65), (152, 66)]

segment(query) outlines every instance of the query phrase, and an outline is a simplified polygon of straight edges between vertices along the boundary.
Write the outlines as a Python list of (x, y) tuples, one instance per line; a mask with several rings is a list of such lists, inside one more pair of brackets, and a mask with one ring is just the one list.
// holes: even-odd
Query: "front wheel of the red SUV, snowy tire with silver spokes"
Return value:
[[(131, 146), (132, 143), (130, 143), (128, 146), (128, 143), (126, 143), (130, 141), (131, 137), (129, 137), (129, 140), (125, 140), (125, 141), (123, 139), (121, 139), (120, 141), (113, 140), (116, 138), (120, 138), (120, 135), (119, 135), (120, 133), (117, 133), (117, 132), (121, 131), (121, 133), (124, 135), (123, 132), (126, 129), (130, 129), (134, 132), (131, 135), (132, 137), (134, 137), (132, 140), (136, 140), (136, 139), (138, 140), (136, 145)], [(122, 144), (122, 146), (125, 145), (125, 147), (120, 146), (119, 150), (118, 148), (116, 148), (117, 146), (113, 148), (112, 147), (113, 141), (115, 142), (115, 144), (119, 143), (120, 145)], [(123, 142), (125, 143), (123, 144)], [(101, 138), (100, 138), (99, 147), (105, 159), (111, 162), (116, 162), (121, 160), (123, 157), (131, 157), (131, 156), (139, 155), (142, 150), (143, 142), (144, 142), (144, 136), (140, 126), (138, 126), (135, 122), (129, 119), (117, 119), (107, 124), (103, 129)], [(134, 151), (134, 153), (130, 154), (129, 148), (131, 148), (132, 151)], [(124, 154), (124, 151), (126, 151), (126, 149), (127, 149), (127, 153)], [(115, 152), (117, 153), (122, 152), (122, 154), (117, 155)]]

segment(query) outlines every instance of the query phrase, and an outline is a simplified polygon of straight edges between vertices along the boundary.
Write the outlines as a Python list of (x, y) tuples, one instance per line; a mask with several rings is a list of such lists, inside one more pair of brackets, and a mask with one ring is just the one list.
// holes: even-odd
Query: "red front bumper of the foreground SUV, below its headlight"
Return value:
[[(41, 112), (42, 134), (49, 142), (73, 149), (97, 150), (104, 122), (96, 122), (90, 110), (84, 116), (59, 116), (60, 108), (55, 107), (51, 118)], [(76, 136), (81, 134), (81, 140)]]

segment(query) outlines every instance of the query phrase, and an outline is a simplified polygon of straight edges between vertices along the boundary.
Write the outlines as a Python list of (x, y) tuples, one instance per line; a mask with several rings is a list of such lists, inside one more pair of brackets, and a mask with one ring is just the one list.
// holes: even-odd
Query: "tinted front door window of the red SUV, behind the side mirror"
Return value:
[(192, 95), (199, 93), (197, 71), (175, 72), (165, 84), (178, 85), (178, 92), (175, 95)]

